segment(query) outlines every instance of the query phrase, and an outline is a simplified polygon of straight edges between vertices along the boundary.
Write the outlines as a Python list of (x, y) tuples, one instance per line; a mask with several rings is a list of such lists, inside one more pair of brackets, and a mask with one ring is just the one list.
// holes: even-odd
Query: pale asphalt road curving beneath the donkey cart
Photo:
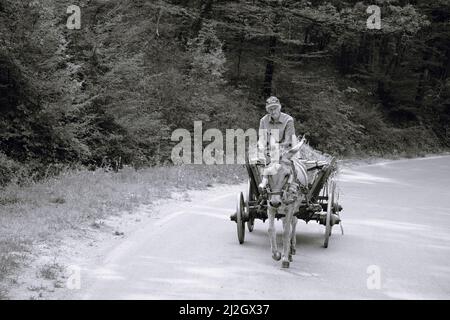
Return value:
[(159, 207), (83, 270), (73, 298), (449, 299), (450, 157), (346, 168), (339, 181), (345, 235), (333, 228), (325, 249), (324, 227), (299, 221), (289, 269), (271, 258), (267, 223), (239, 245), (229, 215), (245, 185), (223, 186)]

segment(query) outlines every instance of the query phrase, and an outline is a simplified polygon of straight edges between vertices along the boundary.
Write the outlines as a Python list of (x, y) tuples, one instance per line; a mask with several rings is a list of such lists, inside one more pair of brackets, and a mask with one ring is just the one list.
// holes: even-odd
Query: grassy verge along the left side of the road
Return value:
[[(242, 165), (189, 165), (119, 172), (66, 171), (25, 187), (0, 189), (0, 299), (7, 298), (9, 276), (25, 263), (31, 245), (51, 241), (60, 231), (96, 227), (97, 220), (131, 212), (141, 204), (170, 198), (173, 191), (240, 183)], [(55, 266), (39, 270), (54, 277)]]

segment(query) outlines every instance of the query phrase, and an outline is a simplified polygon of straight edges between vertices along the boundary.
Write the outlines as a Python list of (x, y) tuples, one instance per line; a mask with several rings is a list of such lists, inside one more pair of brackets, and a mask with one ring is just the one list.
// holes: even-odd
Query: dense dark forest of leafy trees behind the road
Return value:
[(0, 185), (168, 164), (174, 129), (257, 128), (270, 95), (331, 154), (450, 147), (448, 0), (78, 0), (79, 30), (70, 4), (0, 0)]

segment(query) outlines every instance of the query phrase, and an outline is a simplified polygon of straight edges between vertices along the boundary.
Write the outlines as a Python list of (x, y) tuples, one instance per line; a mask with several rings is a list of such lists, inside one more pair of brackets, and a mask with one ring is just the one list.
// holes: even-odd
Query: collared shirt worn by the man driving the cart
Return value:
[[(266, 114), (259, 122), (259, 130), (260, 137), (258, 144), (260, 148), (267, 148), (271, 137), (276, 142), (286, 143), (292, 146), (292, 136), (295, 135), (294, 119), (290, 115), (281, 112), (280, 118), (274, 121), (270, 114)], [(276, 130), (278, 130), (278, 133)]]

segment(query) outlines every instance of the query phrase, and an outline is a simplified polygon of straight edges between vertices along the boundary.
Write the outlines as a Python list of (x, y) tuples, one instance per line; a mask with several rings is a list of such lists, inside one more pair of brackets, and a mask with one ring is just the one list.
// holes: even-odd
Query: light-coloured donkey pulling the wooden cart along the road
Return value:
[[(308, 175), (304, 164), (293, 161), (292, 157), (300, 150), (304, 140), (292, 149), (284, 152), (279, 162), (271, 162), (263, 170), (263, 179), (259, 187), (266, 189), (268, 195), (267, 216), (269, 219), (269, 240), (272, 258), (282, 259), (282, 268), (289, 268), (292, 255), (295, 255), (297, 217), (294, 213), (305, 198), (303, 193), (308, 186)], [(278, 213), (283, 221), (283, 250), (278, 251), (275, 216)]]

